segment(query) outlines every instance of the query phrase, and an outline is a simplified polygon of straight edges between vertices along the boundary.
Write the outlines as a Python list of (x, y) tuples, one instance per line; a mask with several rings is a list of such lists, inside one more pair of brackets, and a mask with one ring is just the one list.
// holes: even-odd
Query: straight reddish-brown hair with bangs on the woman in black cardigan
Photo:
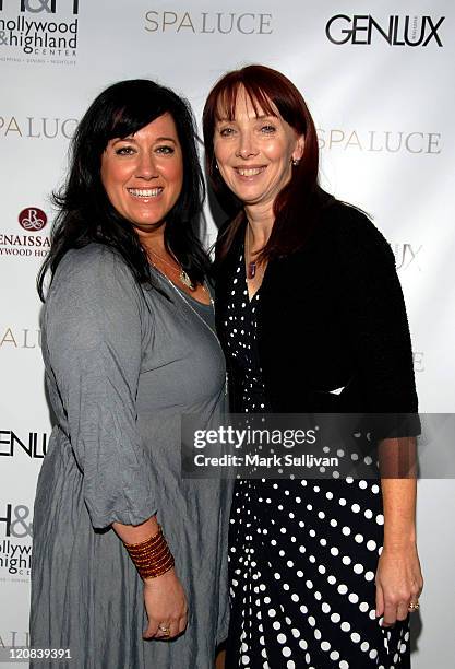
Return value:
[(275, 223), (267, 244), (260, 254), (261, 259), (286, 256), (302, 246), (309, 231), (316, 222), (322, 207), (334, 198), (319, 185), (319, 144), (314, 121), (308, 106), (287, 77), (261, 64), (251, 64), (228, 72), (217, 81), (208, 94), (203, 111), (205, 167), (212, 187), (225, 211), (232, 218), (217, 243), (217, 258), (223, 259), (242, 224), (237, 215), (242, 202), (229, 190), (216, 169), (214, 133), (217, 120), (235, 119), (236, 102), (242, 89), (250, 98), (256, 114), (263, 113), (282, 118), (298, 136), (304, 136), (303, 155), (292, 167), (290, 181), (274, 201)]

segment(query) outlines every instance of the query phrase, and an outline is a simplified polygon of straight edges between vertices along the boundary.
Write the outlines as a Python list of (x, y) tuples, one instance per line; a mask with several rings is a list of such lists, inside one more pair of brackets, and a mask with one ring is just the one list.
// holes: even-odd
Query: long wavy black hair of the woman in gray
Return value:
[(82, 248), (91, 242), (115, 249), (139, 283), (154, 285), (147, 256), (133, 225), (115, 209), (106, 195), (100, 166), (110, 139), (134, 134), (166, 113), (176, 124), (182, 149), (183, 185), (166, 216), (165, 246), (193, 282), (201, 283), (209, 272), (208, 257), (197, 236), (205, 189), (191, 107), (171, 90), (153, 81), (121, 81), (98, 95), (72, 140), (67, 183), (52, 196), (59, 211), (52, 226), (50, 251), (37, 279), (43, 302), (48, 271), (53, 277), (68, 250)]

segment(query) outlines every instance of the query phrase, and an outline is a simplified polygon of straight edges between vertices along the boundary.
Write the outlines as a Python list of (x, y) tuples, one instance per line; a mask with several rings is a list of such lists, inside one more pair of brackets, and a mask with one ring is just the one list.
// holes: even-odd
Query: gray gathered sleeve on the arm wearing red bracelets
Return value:
[(151, 319), (119, 256), (92, 245), (63, 258), (46, 304), (45, 345), (95, 528), (139, 525), (156, 512), (136, 414)]

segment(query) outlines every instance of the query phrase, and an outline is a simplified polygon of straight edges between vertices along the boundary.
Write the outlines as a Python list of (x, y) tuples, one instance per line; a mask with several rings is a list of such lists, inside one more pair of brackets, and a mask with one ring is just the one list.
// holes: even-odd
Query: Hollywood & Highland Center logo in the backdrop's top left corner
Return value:
[(74, 64), (79, 0), (0, 0), (0, 60)]

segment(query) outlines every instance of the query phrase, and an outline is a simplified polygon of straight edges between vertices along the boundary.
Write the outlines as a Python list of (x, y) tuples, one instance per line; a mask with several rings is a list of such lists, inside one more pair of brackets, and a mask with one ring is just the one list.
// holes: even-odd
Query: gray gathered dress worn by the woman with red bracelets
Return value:
[[(64, 256), (46, 302), (57, 424), (35, 501), (31, 643), (75, 659), (41, 669), (212, 669), (227, 635), (230, 484), (180, 473), (180, 416), (219, 418), (225, 361), (199, 305), (157, 281), (171, 301), (92, 244)], [(110, 528), (155, 513), (190, 609), (171, 642), (142, 639), (142, 582)]]

